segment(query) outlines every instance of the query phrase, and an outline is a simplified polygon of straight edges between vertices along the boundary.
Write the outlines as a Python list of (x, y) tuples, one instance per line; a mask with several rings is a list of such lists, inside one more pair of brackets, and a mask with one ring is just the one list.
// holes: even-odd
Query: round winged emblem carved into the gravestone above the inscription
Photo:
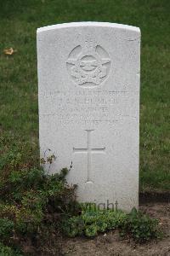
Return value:
[(111, 59), (101, 46), (85, 42), (71, 50), (66, 64), (74, 82), (87, 88), (105, 81), (110, 72)]

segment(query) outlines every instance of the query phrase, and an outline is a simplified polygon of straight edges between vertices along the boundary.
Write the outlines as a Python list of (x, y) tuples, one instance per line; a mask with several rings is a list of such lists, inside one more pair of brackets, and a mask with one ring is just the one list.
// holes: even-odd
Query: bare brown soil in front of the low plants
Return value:
[[(147, 203), (139, 207), (142, 212), (159, 219), (164, 237), (159, 241), (137, 244), (132, 240), (121, 240), (118, 231), (101, 234), (94, 239), (84, 237), (62, 238), (59, 255), (68, 256), (170, 256), (170, 204)], [(56, 254), (55, 254), (56, 255)]]

